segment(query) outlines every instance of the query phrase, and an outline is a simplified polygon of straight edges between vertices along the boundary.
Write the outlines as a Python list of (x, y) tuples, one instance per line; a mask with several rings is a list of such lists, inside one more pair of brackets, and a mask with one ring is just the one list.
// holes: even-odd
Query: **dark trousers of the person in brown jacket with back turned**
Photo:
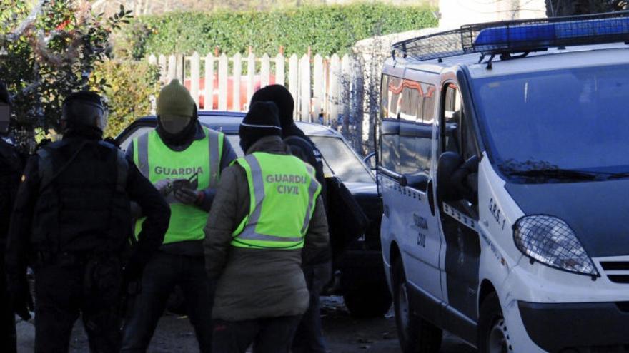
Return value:
[(254, 353), (288, 353), (302, 315), (246, 321), (214, 322), (214, 352), (245, 353), (253, 343)]

